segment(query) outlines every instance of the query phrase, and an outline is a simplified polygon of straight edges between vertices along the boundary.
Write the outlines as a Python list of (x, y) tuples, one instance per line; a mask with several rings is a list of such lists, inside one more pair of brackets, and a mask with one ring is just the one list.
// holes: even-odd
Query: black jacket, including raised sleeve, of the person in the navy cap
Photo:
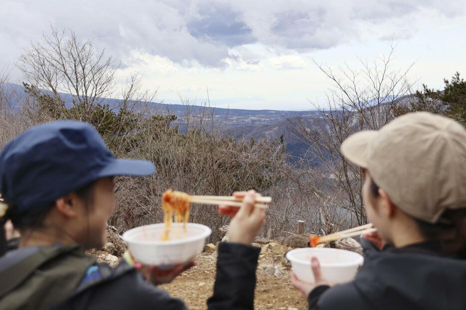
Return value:
[[(209, 310), (254, 308), (255, 269), (259, 251), (259, 248), (252, 246), (220, 244), (214, 294), (207, 303)], [(95, 272), (89, 273), (92, 268), (95, 268)], [(124, 261), (116, 268), (106, 264), (93, 265), (92, 268), (88, 269), (71, 296), (53, 309), (187, 309), (183, 301), (146, 281)], [(16, 289), (21, 290), (21, 286)], [(46, 288), (42, 288), (42, 291), (44, 294), (54, 294)], [(32, 305), (21, 309), (36, 307)]]

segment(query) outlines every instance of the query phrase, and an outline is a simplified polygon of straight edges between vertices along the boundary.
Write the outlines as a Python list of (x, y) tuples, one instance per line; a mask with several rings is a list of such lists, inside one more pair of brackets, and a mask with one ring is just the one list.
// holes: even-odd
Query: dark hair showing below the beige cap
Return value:
[[(375, 197), (379, 196), (379, 188), (371, 179), (371, 194)], [(466, 208), (446, 210), (437, 223), (412, 218), (427, 240), (442, 243), (443, 254), (466, 257)]]

